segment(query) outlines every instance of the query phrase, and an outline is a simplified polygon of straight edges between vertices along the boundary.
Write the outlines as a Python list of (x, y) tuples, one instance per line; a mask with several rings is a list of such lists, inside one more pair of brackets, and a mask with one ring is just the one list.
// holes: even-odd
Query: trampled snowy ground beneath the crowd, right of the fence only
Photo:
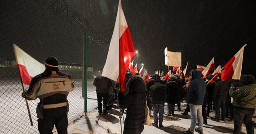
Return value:
[[(167, 105), (167, 104), (166, 104)], [(177, 111), (177, 106), (175, 107), (175, 115), (164, 116), (163, 127), (156, 128), (154, 126), (144, 125), (145, 128), (142, 134), (181, 134), (181, 131), (185, 131), (190, 127), (190, 115), (184, 116), (181, 115), (183, 112)], [(185, 103), (181, 103), (181, 109), (185, 109)], [(167, 112), (167, 106), (164, 107), (164, 112)], [(113, 108), (109, 111), (109, 114), (103, 115), (98, 124), (96, 120), (98, 120), (98, 111), (97, 109), (93, 109), (88, 112), (88, 116), (80, 117), (75, 120), (68, 126), (68, 134), (122, 134), (122, 130), (124, 130), (124, 119), (126, 114), (124, 114), (124, 119), (121, 117), (122, 124), (119, 122), (119, 115), (117, 106), (114, 105)], [(189, 113), (190, 114), (190, 113)], [(208, 125), (203, 126), (203, 134), (232, 134), (234, 130), (233, 121), (227, 118), (230, 121), (212, 121), (210, 118), (214, 117), (215, 113), (212, 111), (210, 113), (210, 117), (208, 117), (207, 122)], [(255, 118), (253, 118), (255, 121)], [(151, 117), (151, 121), (153, 122), (153, 117)], [(74, 123), (74, 124), (73, 124)], [(253, 122), (254, 132), (256, 132), (256, 122)], [(194, 134), (198, 134), (194, 132)], [(246, 128), (243, 125), (242, 134), (246, 134)]]

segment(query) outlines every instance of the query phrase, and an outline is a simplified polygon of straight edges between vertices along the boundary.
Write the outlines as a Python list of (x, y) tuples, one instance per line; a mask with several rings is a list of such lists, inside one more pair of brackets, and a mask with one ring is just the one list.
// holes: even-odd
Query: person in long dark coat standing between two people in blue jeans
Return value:
[(166, 102), (168, 103), (167, 113), (165, 115), (171, 116), (174, 115), (174, 108), (177, 101), (179, 101), (179, 88), (177, 84), (177, 77), (172, 76), (169, 78), (168, 83), (166, 84)]

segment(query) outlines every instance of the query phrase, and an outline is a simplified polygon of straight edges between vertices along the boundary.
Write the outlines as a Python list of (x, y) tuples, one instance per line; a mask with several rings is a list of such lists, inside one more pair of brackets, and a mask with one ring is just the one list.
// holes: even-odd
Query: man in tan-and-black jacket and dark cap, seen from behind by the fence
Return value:
[(36, 108), (40, 134), (53, 134), (54, 125), (58, 134), (67, 134), (69, 107), (66, 98), (74, 90), (74, 84), (70, 75), (59, 71), (55, 57), (47, 58), (44, 65), (45, 71), (31, 80), (29, 89), (22, 93), (22, 97), (40, 99)]

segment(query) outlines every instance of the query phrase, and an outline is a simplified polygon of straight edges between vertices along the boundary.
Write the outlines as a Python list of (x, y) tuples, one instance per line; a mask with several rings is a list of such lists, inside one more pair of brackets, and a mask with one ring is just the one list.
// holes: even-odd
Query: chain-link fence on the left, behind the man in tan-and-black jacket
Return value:
[[(109, 42), (64, 0), (0, 1), (0, 134), (38, 133), (36, 106), (40, 100), (28, 101), (31, 126), (25, 99), (21, 97), (13, 43), (40, 63), (49, 56), (56, 57), (59, 69), (71, 75), (75, 83), (75, 90), (67, 98), (68, 119), (84, 114), (84, 27), (75, 19), (88, 28), (91, 42), (107, 49)], [(88, 47), (93, 48), (90, 44)], [(89, 65), (87, 70), (87, 109), (93, 109), (97, 106), (93, 75), (99, 74)]]

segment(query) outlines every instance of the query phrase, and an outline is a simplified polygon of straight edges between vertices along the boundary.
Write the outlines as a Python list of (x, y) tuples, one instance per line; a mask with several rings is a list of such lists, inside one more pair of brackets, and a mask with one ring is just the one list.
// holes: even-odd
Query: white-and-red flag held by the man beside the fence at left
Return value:
[(18, 64), (21, 81), (23, 84), (30, 85), (31, 79), (35, 77), (35, 75), (44, 72), (45, 66), (15, 44), (13, 44), (13, 50)]

